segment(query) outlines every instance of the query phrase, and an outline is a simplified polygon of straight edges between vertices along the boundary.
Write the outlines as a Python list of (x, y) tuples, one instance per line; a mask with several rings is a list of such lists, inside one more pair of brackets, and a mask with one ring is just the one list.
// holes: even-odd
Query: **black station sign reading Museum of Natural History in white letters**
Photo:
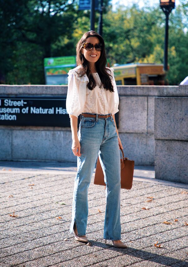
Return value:
[[(118, 113), (115, 119), (118, 127)], [(70, 127), (66, 96), (0, 97), (0, 125)]]

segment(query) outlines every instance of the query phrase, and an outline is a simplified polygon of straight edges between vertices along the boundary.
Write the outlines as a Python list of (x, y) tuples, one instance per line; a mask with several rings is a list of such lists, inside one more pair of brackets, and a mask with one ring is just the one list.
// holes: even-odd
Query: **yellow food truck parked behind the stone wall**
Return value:
[(114, 64), (114, 77), (117, 85), (164, 85), (163, 64), (130, 63)]

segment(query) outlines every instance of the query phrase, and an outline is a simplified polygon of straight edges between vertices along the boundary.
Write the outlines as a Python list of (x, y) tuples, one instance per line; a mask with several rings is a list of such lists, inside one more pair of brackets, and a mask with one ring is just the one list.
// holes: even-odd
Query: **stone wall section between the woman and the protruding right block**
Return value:
[(119, 136), (125, 156), (136, 165), (154, 165), (154, 97), (156, 86), (119, 86)]

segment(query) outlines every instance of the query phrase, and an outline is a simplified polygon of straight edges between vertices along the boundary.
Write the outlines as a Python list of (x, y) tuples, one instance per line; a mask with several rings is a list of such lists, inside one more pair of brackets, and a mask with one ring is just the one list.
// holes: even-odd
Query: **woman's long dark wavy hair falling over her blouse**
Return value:
[(87, 77), (89, 79), (87, 87), (90, 90), (93, 90), (95, 88), (95, 86), (97, 85), (96, 81), (95, 81), (95, 79), (91, 73), (91, 68), (90, 68), (89, 62), (86, 60), (84, 55), (81, 54), (82, 46), (86, 43), (86, 39), (88, 37), (91, 37), (91, 36), (97, 37), (99, 39), (100, 43), (102, 43), (101, 55), (100, 55), (99, 59), (97, 60), (97, 62), (95, 63), (97, 73), (101, 79), (100, 88), (103, 85), (103, 87), (106, 90), (110, 90), (111, 92), (114, 92), (112, 82), (111, 82), (111, 79), (109, 77), (109, 76), (112, 77), (111, 70), (110, 70), (110, 74), (108, 74), (107, 69), (106, 69), (107, 57), (106, 57), (106, 52), (105, 52), (104, 39), (102, 38), (102, 36), (100, 34), (98, 34), (94, 30), (90, 30), (90, 31), (85, 32), (84, 35), (81, 37), (81, 39), (76, 44), (76, 64), (77, 64), (77, 66), (78, 65), (82, 66), (81, 71), (80, 71), (80, 73), (78, 73), (78, 75), (80, 77), (82, 77), (84, 74), (87, 75)]

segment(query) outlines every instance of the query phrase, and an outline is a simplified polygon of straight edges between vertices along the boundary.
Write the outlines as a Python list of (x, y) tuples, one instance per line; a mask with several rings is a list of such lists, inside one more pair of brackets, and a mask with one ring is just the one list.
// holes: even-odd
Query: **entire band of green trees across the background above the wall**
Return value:
[[(169, 20), (169, 84), (188, 73), (188, 6), (180, 5)], [(119, 6), (104, 1), (103, 37), (114, 63), (163, 63), (165, 15), (159, 7)], [(147, 5), (146, 5), (147, 6)], [(99, 12), (95, 14), (98, 27)], [(90, 10), (76, 0), (0, 0), (0, 82), (44, 84), (44, 57), (76, 54), (76, 43), (90, 30)]]

